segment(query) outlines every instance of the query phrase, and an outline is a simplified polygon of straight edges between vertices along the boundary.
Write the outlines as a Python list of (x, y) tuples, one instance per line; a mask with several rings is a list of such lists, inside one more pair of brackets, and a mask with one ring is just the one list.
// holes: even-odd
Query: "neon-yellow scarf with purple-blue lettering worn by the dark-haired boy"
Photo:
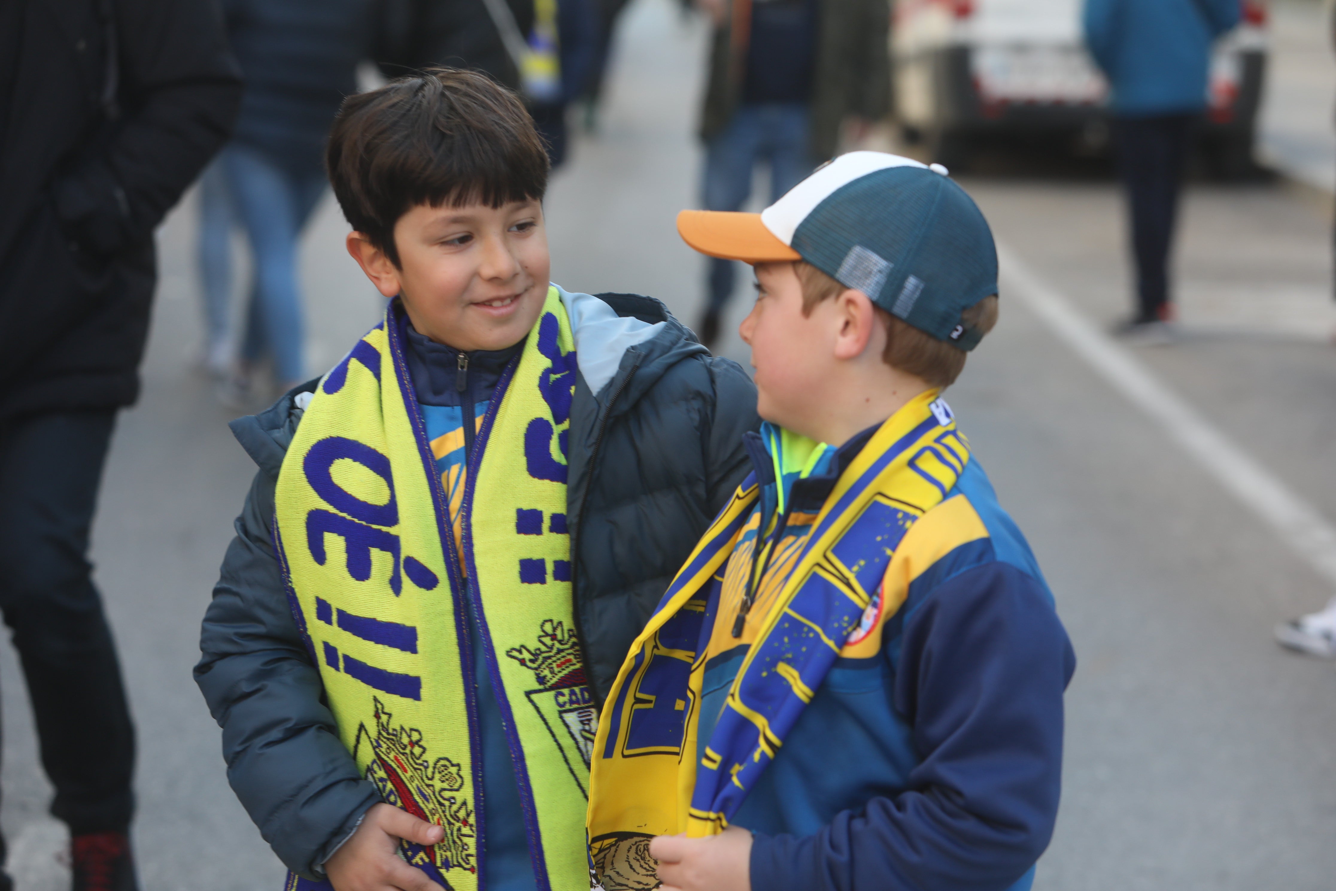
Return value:
[(322, 381), (283, 460), (275, 538), (293, 609), (358, 769), (390, 804), (445, 827), (432, 848), (405, 844), (406, 858), (465, 891), (481, 884), (478, 831), (493, 819), (481, 801), (472, 598), (538, 888), (587, 887), (581, 823), (596, 716), (565, 534), (576, 382), (565, 307), (550, 289), (478, 430), (465, 566), (405, 365), (406, 325), (395, 301)]

